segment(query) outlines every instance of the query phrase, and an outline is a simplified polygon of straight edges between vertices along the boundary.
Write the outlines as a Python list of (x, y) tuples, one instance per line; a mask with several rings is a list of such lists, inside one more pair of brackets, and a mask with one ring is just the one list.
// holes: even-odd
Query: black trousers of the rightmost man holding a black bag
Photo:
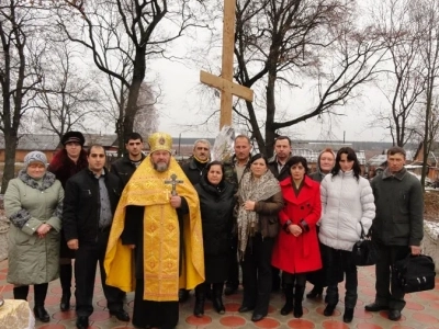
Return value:
[(410, 249), (407, 246), (385, 246), (380, 242), (376, 242), (376, 246), (380, 259), (375, 265), (375, 303), (389, 306), (390, 309), (402, 310), (405, 306), (404, 291), (391, 280), (392, 265), (404, 259)]

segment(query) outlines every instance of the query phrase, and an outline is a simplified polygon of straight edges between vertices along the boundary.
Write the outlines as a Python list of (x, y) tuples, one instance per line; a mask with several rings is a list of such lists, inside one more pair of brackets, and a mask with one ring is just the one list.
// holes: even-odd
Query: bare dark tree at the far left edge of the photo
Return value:
[(21, 118), (35, 97), (34, 88), (41, 82), (41, 48), (30, 48), (37, 36), (43, 18), (36, 7), (26, 1), (0, 2), (0, 131), (4, 138), (4, 171), (1, 193), (14, 175), (15, 150)]

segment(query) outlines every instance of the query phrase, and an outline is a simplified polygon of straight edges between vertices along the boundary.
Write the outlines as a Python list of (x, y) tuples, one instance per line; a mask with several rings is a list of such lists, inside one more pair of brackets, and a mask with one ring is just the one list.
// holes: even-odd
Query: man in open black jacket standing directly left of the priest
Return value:
[(122, 192), (120, 179), (105, 168), (105, 150), (92, 145), (88, 151), (89, 167), (66, 183), (63, 227), (68, 248), (76, 251), (76, 313), (78, 329), (89, 327), (93, 313), (92, 299), (97, 263), (108, 308), (121, 321), (130, 321), (123, 309), (123, 294), (105, 284), (103, 260), (113, 214)]

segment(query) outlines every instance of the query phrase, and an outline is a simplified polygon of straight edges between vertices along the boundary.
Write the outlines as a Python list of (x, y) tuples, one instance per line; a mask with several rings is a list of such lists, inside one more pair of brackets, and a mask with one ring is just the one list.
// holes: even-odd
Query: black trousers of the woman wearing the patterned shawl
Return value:
[(255, 314), (266, 316), (270, 303), (272, 284), (271, 253), (273, 238), (263, 238), (260, 234), (248, 239), (243, 266), (244, 298), (243, 306), (255, 307)]

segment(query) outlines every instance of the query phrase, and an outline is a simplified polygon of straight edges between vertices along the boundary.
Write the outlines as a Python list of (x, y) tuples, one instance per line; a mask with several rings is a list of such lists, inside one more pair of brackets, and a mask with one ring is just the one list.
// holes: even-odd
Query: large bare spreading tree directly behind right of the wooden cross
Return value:
[[(234, 77), (263, 97), (234, 110), (261, 152), (272, 155), (281, 129), (336, 113), (375, 77), (385, 49), (354, 9), (342, 0), (237, 1)], [(318, 101), (279, 111), (283, 89), (309, 84)]]

